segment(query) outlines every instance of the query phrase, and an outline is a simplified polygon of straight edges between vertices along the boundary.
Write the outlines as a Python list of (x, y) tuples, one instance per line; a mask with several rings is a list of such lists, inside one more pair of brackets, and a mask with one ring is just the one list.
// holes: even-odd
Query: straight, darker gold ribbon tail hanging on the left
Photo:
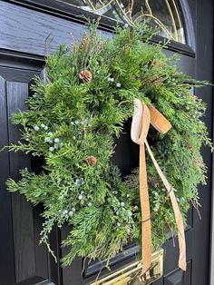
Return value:
[(151, 267), (151, 212), (147, 184), (145, 145), (140, 145), (140, 198), (141, 198), (141, 248), (142, 274)]

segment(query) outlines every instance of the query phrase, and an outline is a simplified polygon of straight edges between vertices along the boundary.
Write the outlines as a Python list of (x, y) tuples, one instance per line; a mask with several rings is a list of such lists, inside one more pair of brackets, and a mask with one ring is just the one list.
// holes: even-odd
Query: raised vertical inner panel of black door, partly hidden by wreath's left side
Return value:
[[(28, 84), (7, 82), (7, 112), (24, 110), (25, 100), (28, 97)], [(9, 118), (8, 118), (9, 119)], [(9, 121), (9, 120), (8, 120)], [(19, 130), (8, 123), (9, 144), (17, 143)], [(10, 152), (10, 176), (15, 180), (20, 178), (19, 170), (30, 168), (30, 157), (23, 152)], [(16, 282), (28, 279), (35, 274), (34, 262), (34, 223), (32, 205), (26, 202), (24, 196), (15, 193), (12, 195), (13, 227), (15, 246), (15, 278)]]

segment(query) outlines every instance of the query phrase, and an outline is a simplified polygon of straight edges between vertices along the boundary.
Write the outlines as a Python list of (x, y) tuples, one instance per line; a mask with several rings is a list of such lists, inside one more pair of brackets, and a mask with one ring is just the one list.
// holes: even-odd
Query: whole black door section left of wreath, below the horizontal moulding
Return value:
[[(10, 114), (26, 108), (29, 82), (35, 72), (0, 66), (0, 148), (19, 139), (19, 129), (10, 123)], [(5, 189), (8, 177), (19, 178), (19, 170), (31, 168), (30, 156), (22, 152), (0, 152), (1, 175), (1, 237), (0, 284), (51, 284), (49, 256), (44, 246), (39, 246), (42, 219), (40, 206), (33, 209), (22, 195), (11, 195)], [(48, 283), (49, 282), (49, 283)]]

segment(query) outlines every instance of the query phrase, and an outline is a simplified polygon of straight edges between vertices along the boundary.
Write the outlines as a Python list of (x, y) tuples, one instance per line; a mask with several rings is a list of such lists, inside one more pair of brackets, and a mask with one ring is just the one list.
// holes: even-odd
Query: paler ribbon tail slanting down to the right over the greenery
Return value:
[(178, 202), (176, 200), (175, 194), (173, 190), (171, 189), (170, 183), (168, 182), (166, 176), (161, 171), (160, 166), (158, 162), (156, 162), (153, 153), (151, 152), (151, 148), (149, 146), (149, 143), (145, 142), (146, 147), (148, 149), (148, 152), (150, 153), (151, 160), (157, 170), (157, 172), (160, 175), (160, 179), (163, 182), (164, 186), (166, 187), (168, 194), (170, 196), (171, 205), (175, 214), (175, 221), (178, 228), (178, 238), (179, 238), (179, 247), (180, 247), (180, 259), (179, 259), (179, 267), (181, 270), (186, 270), (187, 268), (187, 262), (186, 262), (186, 241), (185, 241), (185, 232), (184, 232), (184, 225), (182, 220), (182, 215), (180, 213), (180, 208), (178, 205)]

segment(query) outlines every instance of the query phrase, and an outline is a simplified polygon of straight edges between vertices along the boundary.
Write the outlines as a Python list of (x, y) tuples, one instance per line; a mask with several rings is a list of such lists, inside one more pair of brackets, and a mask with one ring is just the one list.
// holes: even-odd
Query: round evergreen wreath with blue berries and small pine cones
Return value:
[[(112, 39), (100, 34), (97, 25), (89, 25), (71, 48), (62, 45), (46, 58), (45, 80), (35, 77), (28, 110), (12, 114), (12, 123), (21, 124), (21, 139), (9, 149), (43, 157), (44, 171), (21, 170), (22, 179), (9, 179), (8, 190), (24, 194), (34, 205), (44, 204), (41, 242), (49, 250), (53, 225), (71, 225), (63, 246), (72, 250), (63, 266), (76, 255), (108, 265), (129, 241), (141, 241), (139, 171), (122, 178), (111, 163), (115, 136), (131, 117), (135, 97), (152, 103), (172, 124), (164, 135), (151, 127), (148, 139), (184, 221), (190, 202), (198, 209), (197, 186), (205, 183), (201, 145), (212, 147), (200, 120), (205, 103), (190, 93), (207, 83), (180, 73), (178, 58), (166, 57), (163, 44), (151, 44), (155, 32), (147, 23), (117, 26)], [(154, 251), (176, 224), (149, 156), (147, 167)]]

